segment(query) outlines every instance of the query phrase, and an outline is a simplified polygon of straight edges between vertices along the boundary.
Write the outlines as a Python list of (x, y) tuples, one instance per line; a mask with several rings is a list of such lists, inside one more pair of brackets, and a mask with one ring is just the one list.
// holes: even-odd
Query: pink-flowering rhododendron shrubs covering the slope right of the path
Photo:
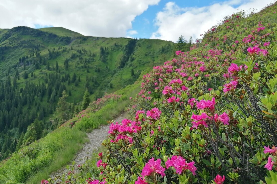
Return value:
[(144, 75), (133, 118), (109, 122), (95, 179), (277, 182), (276, 23), (266, 18), (276, 6), (226, 17)]

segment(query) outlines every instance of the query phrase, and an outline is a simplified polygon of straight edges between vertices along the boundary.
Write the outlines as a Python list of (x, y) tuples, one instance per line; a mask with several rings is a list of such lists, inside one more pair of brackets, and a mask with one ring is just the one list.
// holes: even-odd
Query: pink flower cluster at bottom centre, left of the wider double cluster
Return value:
[(150, 176), (152, 173), (158, 173), (162, 177), (165, 176), (165, 168), (161, 166), (161, 159), (154, 160), (152, 157), (143, 167), (141, 175), (142, 177)]

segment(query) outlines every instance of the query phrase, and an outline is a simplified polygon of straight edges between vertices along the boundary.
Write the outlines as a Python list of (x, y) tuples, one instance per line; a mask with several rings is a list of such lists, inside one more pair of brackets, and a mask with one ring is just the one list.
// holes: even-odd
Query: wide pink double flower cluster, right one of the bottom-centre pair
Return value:
[(193, 175), (195, 175), (197, 168), (194, 166), (194, 164), (194, 162), (186, 162), (186, 160), (181, 156), (172, 156), (171, 159), (168, 158), (168, 160), (165, 162), (166, 169), (169, 167), (174, 167), (177, 174), (182, 174), (186, 170), (190, 170)]

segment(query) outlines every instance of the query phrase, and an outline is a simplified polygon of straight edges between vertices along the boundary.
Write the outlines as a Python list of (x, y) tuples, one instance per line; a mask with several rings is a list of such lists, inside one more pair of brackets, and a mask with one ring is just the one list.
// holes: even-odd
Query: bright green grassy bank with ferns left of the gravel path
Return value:
[(80, 144), (84, 143), (85, 131), (116, 117), (130, 103), (127, 97), (138, 91), (139, 83), (117, 91), (117, 94), (125, 95), (98, 112), (91, 113), (89, 118), (83, 118), (74, 128), (61, 127), (12, 154), (11, 158), (0, 164), (0, 183), (39, 183), (45, 176), (72, 160), (81, 149)]

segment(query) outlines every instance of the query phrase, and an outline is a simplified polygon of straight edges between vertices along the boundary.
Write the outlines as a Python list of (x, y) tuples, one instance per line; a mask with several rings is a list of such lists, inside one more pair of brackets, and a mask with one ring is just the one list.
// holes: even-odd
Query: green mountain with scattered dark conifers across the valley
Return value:
[(86, 89), (94, 100), (132, 84), (143, 70), (170, 59), (175, 45), (83, 36), (62, 27), (0, 29), (0, 159), (34, 141), (24, 134), (36, 119), (37, 139), (55, 128), (49, 118), (63, 90), (71, 114), (79, 112)]

